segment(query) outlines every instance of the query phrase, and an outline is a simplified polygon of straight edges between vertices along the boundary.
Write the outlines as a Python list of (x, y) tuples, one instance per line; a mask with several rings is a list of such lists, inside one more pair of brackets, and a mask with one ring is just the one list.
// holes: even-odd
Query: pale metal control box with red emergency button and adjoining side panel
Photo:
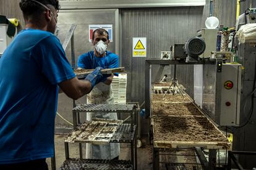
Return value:
[(242, 65), (232, 63), (220, 63), (220, 65), (221, 70), (219, 66), (203, 65), (202, 103), (197, 104), (216, 124), (239, 126)]

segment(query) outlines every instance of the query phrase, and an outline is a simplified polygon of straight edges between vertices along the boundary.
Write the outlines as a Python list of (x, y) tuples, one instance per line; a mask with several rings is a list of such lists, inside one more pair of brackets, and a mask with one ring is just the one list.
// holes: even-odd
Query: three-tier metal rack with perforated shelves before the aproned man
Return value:
[[(130, 123), (121, 123), (109, 143), (130, 143), (131, 160), (93, 160), (82, 158), (82, 143), (79, 141), (80, 158), (69, 158), (69, 142), (66, 140), (66, 161), (60, 169), (137, 169), (137, 112), (138, 106), (132, 104), (77, 104), (73, 108), (74, 131), (80, 127), (81, 112), (130, 113)], [(72, 132), (70, 132), (72, 133)], [(70, 134), (69, 134), (70, 136)]]

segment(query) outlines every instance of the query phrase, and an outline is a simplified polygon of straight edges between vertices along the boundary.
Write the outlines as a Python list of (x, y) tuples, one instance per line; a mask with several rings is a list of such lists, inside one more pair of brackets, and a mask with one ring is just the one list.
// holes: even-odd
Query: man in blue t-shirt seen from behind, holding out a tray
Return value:
[(0, 59), (0, 169), (48, 169), (60, 89), (79, 99), (101, 81), (100, 67), (75, 77), (54, 36), (58, 0), (21, 0), (25, 30)]

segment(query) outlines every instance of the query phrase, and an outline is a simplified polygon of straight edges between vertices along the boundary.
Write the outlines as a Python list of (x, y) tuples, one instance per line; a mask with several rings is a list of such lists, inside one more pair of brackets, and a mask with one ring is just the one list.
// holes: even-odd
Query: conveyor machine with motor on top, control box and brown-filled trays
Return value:
[[(209, 38), (205, 34), (201, 34), (201, 36), (205, 39)], [(158, 169), (160, 166), (159, 155), (161, 154), (161, 148), (198, 147), (196, 152), (200, 157), (199, 159), (203, 164), (202, 166), (204, 169), (215, 168), (217, 148), (229, 148), (230, 143), (220, 131), (217, 130), (218, 132), (216, 131), (216, 135), (209, 134), (209, 136), (219, 136), (220, 138), (210, 140), (211, 142), (208, 143), (205, 140), (205, 134), (202, 134), (202, 140), (197, 140), (201, 137), (201, 131), (206, 132), (207, 134), (207, 129), (193, 129), (197, 121), (201, 118), (207, 118), (207, 120), (210, 118), (209, 123), (213, 122), (215, 127), (216, 125), (239, 126), (240, 123), (242, 66), (238, 63), (228, 63), (233, 60), (231, 52), (215, 52), (216, 43), (211, 44), (212, 49), (208, 49), (208, 52), (206, 53), (205, 49), (207, 48), (207, 44), (203, 38), (196, 37), (186, 41), (186, 44), (174, 44), (174, 46), (171, 47), (172, 60), (146, 59), (145, 116), (146, 118), (150, 117), (152, 122), (150, 126), (152, 130), (150, 130), (150, 132), (153, 136), (154, 144), (154, 169)], [(152, 65), (160, 65), (160, 68), (162, 68), (161, 65), (173, 65), (174, 78), (170, 82), (173, 88), (169, 86), (167, 91), (165, 91), (166, 89), (163, 89), (163, 93), (160, 91), (160, 94), (155, 94), (155, 91), (152, 90), (152, 88), (155, 87), (155, 84), (151, 82)], [(176, 65), (194, 65), (193, 101), (187, 100), (189, 97), (186, 93), (181, 91), (177, 84)], [(178, 89), (177, 92), (175, 92), (175, 87)], [(169, 89), (172, 89), (171, 92), (169, 92)], [(174, 94), (176, 94), (176, 97)], [(200, 113), (196, 111), (196, 108), (200, 110)], [(190, 119), (194, 118), (196, 121), (194, 122), (191, 120), (193, 123), (189, 123)], [(162, 120), (168, 122), (167, 124), (173, 124), (173, 126), (171, 126), (173, 127), (172, 129), (164, 131), (166, 133), (165, 135), (161, 134), (161, 131), (163, 131), (163, 129), (161, 129), (161, 126), (163, 125), (163, 123), (161, 123), (163, 122)], [(179, 124), (179, 122), (182, 123)], [(186, 124), (186, 127), (180, 127), (184, 124)], [(165, 127), (167, 128), (167, 125), (164, 125), (164, 128)], [(171, 134), (176, 127), (180, 130)], [(205, 124), (203, 127), (206, 127)], [(190, 132), (191, 128), (193, 130)], [(183, 132), (182, 129), (186, 130)], [(216, 129), (218, 128), (216, 127)], [(189, 137), (187, 137), (188, 140), (182, 140), (182, 137), (180, 137), (179, 140), (176, 141), (177, 139), (175, 139), (174, 136), (179, 134), (180, 131), (183, 132), (181, 136), (186, 136), (186, 132), (189, 133)], [(194, 136), (192, 133), (194, 131), (198, 131), (196, 132), (197, 139), (192, 139), (192, 136)], [(213, 131), (211, 131), (211, 133), (213, 133)], [(171, 134), (171, 137), (168, 138), (167, 134)], [(217, 142), (217, 140), (220, 139), (223, 140)], [(200, 147), (209, 149), (210, 155), (208, 161), (203, 158), (203, 153)]]

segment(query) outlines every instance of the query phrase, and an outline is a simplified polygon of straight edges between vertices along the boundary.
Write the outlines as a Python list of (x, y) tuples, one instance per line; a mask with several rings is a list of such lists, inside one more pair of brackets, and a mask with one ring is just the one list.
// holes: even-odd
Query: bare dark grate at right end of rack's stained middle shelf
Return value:
[(114, 136), (111, 138), (111, 143), (127, 143), (134, 140), (136, 125), (134, 125), (134, 130), (130, 131), (130, 124), (122, 124), (119, 126)]

